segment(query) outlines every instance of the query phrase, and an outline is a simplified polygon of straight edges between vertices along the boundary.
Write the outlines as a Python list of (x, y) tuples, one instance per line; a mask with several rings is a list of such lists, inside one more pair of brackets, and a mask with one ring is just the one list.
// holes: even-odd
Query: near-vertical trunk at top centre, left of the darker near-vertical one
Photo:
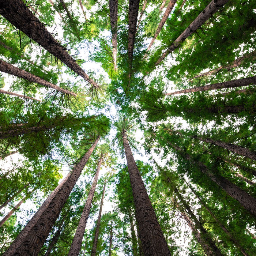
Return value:
[(118, 0), (109, 0), (109, 16), (112, 33), (114, 70), (117, 71), (117, 11)]

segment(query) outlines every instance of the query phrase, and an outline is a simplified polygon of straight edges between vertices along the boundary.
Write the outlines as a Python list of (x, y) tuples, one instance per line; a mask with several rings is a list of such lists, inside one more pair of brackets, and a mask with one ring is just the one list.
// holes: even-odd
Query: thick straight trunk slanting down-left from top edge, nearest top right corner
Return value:
[(185, 29), (181, 35), (173, 42), (171, 46), (162, 54), (161, 57), (155, 63), (155, 66), (159, 65), (165, 57), (173, 52), (189, 35), (193, 34), (200, 26), (206, 22), (215, 12), (219, 10), (228, 0), (212, 0), (210, 4), (196, 17), (196, 19)]

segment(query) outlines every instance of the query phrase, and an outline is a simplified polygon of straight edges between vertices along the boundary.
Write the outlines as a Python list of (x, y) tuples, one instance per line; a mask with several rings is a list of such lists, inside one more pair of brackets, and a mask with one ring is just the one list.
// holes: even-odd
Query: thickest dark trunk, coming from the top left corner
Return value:
[(45, 26), (26, 7), (22, 0), (0, 0), (0, 14), (11, 22), (13, 26), (17, 27), (17, 29), (21, 30), (29, 38), (33, 39), (71, 68), (76, 74), (84, 78), (84, 80), (97, 86), (97, 83), (89, 78), (65, 48), (53, 38), (52, 34), (49, 33)]

